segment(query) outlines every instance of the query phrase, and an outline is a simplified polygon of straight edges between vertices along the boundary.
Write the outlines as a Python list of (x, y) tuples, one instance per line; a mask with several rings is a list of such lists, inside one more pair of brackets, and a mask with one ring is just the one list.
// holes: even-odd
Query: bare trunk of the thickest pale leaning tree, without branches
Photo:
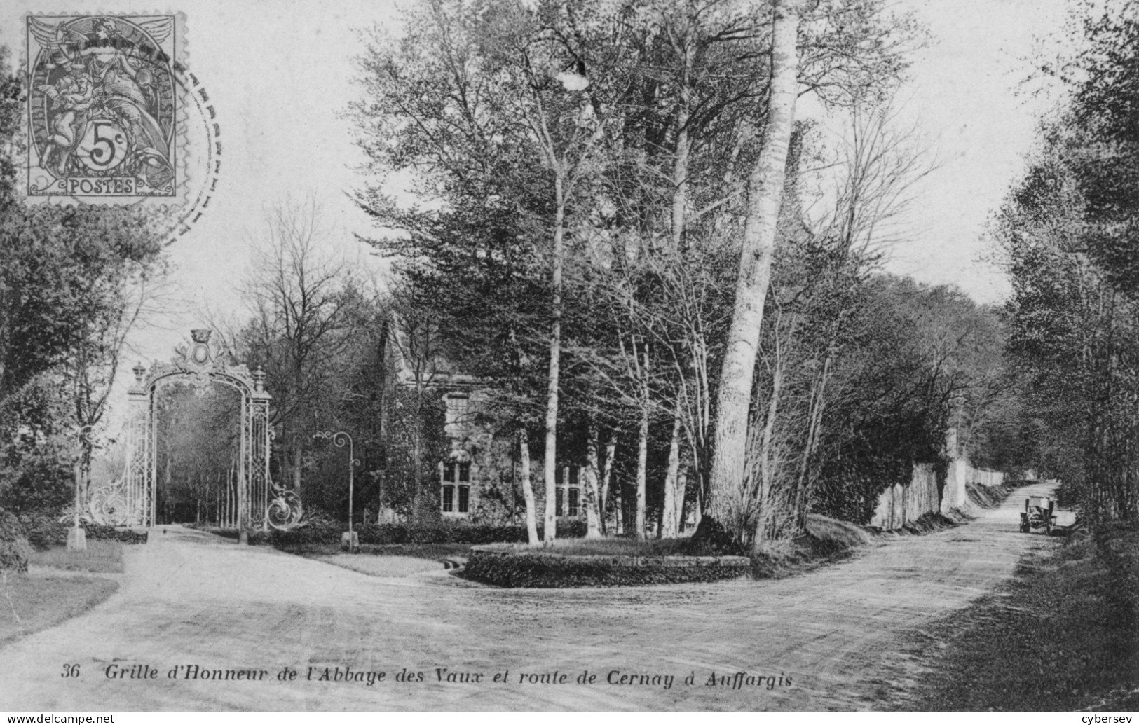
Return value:
[(747, 423), (756, 351), (763, 326), (763, 303), (771, 279), (779, 207), (787, 171), (787, 150), (795, 121), (798, 53), (795, 40), (801, 0), (773, 0), (771, 93), (763, 147), (749, 179), (747, 219), (731, 328), (716, 396), (715, 450), (707, 514), (740, 544), (753, 532), (744, 478)]

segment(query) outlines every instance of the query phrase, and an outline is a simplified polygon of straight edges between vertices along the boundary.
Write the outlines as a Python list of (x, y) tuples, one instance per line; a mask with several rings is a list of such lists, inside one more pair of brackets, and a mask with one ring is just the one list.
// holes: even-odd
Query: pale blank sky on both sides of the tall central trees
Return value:
[[(927, 282), (952, 282), (982, 302), (1007, 291), (982, 262), (988, 215), (1022, 168), (1039, 105), (1015, 93), (1027, 72), (1034, 36), (1058, 28), (1063, 0), (899, 0), (927, 24), (933, 44), (916, 59), (902, 92), (904, 113), (935, 140), (945, 163), (916, 189), (909, 241), (888, 269)], [(6, 0), (0, 43), (23, 57), (27, 13), (153, 14), (153, 1)], [(393, 3), (350, 1), (192, 0), (187, 16), (187, 65), (211, 94), (222, 129), (220, 186), (205, 215), (171, 247), (179, 304), (167, 329), (136, 339), (139, 359), (166, 359), (205, 306), (236, 311), (235, 287), (262, 229), (263, 209), (313, 192), (334, 233), (329, 253), (375, 269), (351, 232), (368, 221), (346, 198), (360, 184), (362, 160), (342, 117), (358, 90), (354, 28), (393, 23)], [(131, 361), (131, 364), (133, 360)], [(130, 366), (130, 365), (128, 365)], [(125, 386), (118, 386), (123, 388)], [(121, 390), (120, 390), (121, 393)]]

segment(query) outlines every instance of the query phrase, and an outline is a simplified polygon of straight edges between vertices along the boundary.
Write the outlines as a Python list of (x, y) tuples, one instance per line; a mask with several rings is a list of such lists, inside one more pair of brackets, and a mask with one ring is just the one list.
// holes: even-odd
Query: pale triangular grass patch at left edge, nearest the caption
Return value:
[(103, 578), (0, 572), (0, 646), (79, 616), (117, 588), (117, 582)]

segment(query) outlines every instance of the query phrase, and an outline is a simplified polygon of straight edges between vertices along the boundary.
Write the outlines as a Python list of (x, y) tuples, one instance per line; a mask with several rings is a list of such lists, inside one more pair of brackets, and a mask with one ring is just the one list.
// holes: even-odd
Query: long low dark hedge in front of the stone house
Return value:
[[(318, 520), (287, 532), (270, 529), (249, 532), (251, 544), (269, 544), (287, 549), (310, 544), (339, 544), (346, 525), (338, 521)], [(464, 524), (370, 524), (354, 529), (361, 544), (499, 544), (526, 541), (524, 526), (468, 526)], [(585, 535), (585, 522), (575, 519), (558, 521), (558, 536), (581, 538)], [(218, 532), (222, 536), (237, 538), (237, 532)], [(538, 527), (542, 535), (542, 526)]]

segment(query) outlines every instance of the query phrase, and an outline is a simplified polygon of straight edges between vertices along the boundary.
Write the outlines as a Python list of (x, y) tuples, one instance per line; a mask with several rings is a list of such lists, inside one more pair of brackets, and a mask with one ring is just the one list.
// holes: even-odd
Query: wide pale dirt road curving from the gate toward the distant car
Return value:
[[(105, 603), (0, 649), (0, 711), (874, 709), (907, 632), (1057, 545), (1017, 532), (1024, 497), (1047, 492), (798, 577), (640, 588), (382, 579), (172, 530), (130, 551)], [(65, 664), (80, 677), (62, 677)], [(278, 679), (286, 667), (296, 679)], [(263, 679), (200, 678), (227, 669)], [(592, 683), (576, 682), (584, 670)]]

